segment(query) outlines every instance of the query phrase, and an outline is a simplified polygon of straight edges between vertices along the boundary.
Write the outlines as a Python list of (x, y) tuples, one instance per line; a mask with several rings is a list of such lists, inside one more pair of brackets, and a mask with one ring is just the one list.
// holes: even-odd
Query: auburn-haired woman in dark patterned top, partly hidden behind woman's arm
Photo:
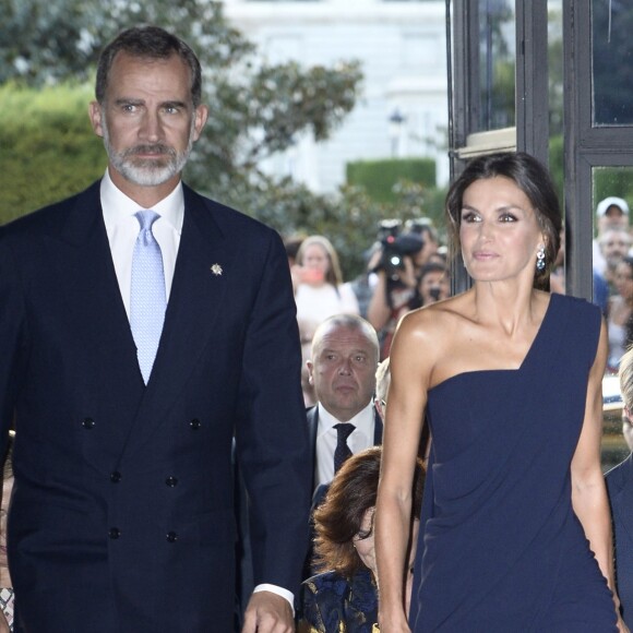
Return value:
[[(378, 622), (373, 513), (382, 449), (374, 446), (349, 457), (334, 477), (325, 501), (314, 513), (315, 552), (322, 573), (302, 585), (299, 631), (372, 633)], [(418, 459), (411, 497), (409, 544), (413, 563), (419, 527), (425, 474)], [(403, 580), (410, 596), (411, 574)], [(408, 608), (408, 598), (407, 598)]]

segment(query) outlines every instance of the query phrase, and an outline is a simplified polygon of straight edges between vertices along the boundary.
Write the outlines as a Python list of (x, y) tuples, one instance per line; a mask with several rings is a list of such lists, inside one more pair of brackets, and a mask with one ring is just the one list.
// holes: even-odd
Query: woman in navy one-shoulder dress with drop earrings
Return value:
[[(559, 248), (554, 188), (529, 155), (489, 155), (466, 167), (446, 210), (474, 285), (407, 314), (392, 347), (381, 632), (626, 631), (600, 467), (606, 329), (597, 307), (538, 289)], [(407, 622), (425, 419), (432, 449)]]

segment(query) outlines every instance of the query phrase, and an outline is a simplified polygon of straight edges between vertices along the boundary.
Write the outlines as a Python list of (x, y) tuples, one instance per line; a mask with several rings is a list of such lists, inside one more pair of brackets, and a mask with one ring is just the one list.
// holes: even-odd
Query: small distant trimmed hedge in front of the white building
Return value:
[(362, 187), (378, 202), (395, 202), (401, 181), (435, 187), (435, 162), (432, 158), (391, 158), (356, 160), (346, 167), (347, 184)]

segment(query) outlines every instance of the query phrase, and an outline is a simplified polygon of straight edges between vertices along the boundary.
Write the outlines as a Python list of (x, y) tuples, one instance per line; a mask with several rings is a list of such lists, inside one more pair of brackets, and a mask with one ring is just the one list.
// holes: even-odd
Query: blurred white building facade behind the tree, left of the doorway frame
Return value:
[(355, 109), (331, 139), (301, 138), (265, 169), (315, 193), (345, 182), (353, 160), (430, 157), (449, 179), (445, 3), (442, 0), (224, 0), (228, 20), (271, 63), (358, 60)]

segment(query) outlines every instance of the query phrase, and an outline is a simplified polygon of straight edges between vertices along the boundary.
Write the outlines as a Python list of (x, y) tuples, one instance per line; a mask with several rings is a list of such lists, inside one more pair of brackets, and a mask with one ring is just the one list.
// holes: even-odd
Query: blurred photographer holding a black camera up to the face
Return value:
[(417, 232), (399, 232), (401, 222), (385, 219), (379, 225), (375, 252), (369, 271), (378, 277), (367, 310), (367, 320), (379, 332), (381, 360), (389, 356), (399, 318), (410, 310), (418, 274), (425, 263), (425, 240)]

